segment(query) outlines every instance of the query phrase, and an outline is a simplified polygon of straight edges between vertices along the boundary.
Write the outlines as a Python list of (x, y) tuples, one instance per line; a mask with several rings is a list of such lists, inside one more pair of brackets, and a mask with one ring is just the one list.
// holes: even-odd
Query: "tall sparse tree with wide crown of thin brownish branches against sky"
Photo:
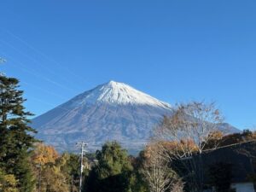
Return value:
[[(166, 148), (173, 162), (186, 169), (191, 186), (189, 190), (202, 191), (204, 177), (201, 154), (209, 149), (217, 148), (216, 132), (223, 123), (223, 117), (214, 103), (189, 102), (177, 105), (171, 117), (164, 117), (155, 130), (155, 137), (160, 141), (169, 141), (172, 148)], [(217, 140), (218, 141), (218, 140)], [(211, 148), (211, 149), (212, 149)], [(178, 167), (180, 169), (180, 167)], [(192, 183), (191, 183), (192, 182)]]

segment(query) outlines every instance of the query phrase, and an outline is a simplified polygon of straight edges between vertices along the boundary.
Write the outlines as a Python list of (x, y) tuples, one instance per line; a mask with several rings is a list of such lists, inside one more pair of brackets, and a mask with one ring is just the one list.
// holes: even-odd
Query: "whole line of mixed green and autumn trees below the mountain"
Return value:
[[(55, 148), (36, 140), (29, 126), (17, 79), (0, 76), (0, 191), (79, 191), (78, 154), (58, 154)], [(154, 136), (137, 157), (117, 142), (105, 143), (84, 158), (84, 192), (202, 192), (206, 189), (203, 158), (208, 152), (236, 143), (255, 141), (256, 134), (243, 131), (228, 135), (223, 116), (214, 103), (189, 102), (177, 105), (171, 117), (164, 117)], [(242, 153), (251, 155), (252, 150)], [(239, 153), (239, 152), (238, 152)], [(222, 165), (220, 165), (222, 167)], [(254, 165), (255, 166), (255, 165)], [(214, 168), (215, 167), (215, 168)], [(217, 192), (231, 191), (210, 170), (210, 183)], [(248, 179), (255, 182), (255, 175)]]

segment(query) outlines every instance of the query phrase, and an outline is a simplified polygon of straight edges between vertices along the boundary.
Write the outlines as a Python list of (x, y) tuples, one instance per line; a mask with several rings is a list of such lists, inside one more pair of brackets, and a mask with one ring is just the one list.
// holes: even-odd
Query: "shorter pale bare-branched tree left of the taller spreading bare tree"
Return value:
[(183, 182), (170, 167), (160, 143), (150, 143), (144, 151), (143, 175), (150, 192), (182, 192)]

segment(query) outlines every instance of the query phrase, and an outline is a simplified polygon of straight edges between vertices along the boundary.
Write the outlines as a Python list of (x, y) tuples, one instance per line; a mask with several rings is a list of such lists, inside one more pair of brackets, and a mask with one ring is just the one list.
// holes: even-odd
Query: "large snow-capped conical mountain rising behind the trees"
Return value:
[(172, 107), (123, 83), (110, 81), (85, 91), (32, 119), (38, 138), (60, 151), (84, 141), (90, 149), (116, 140), (130, 151), (147, 143), (154, 127)]

